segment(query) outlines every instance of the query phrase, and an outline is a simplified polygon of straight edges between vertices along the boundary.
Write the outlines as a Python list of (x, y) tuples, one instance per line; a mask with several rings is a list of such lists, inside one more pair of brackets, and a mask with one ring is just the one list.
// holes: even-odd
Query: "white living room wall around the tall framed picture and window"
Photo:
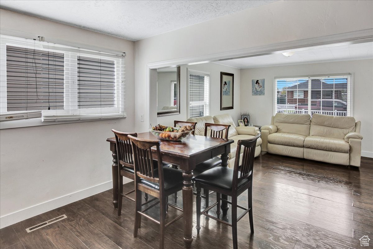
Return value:
[[(157, 118), (157, 124), (173, 126), (174, 120), (185, 121), (188, 119), (187, 108), (187, 82), (188, 69), (210, 74), (210, 116), (228, 113), (237, 123), (239, 116), (239, 89), (240, 89), (240, 73), (239, 69), (229, 66), (218, 65), (215, 63), (204, 63), (197, 65), (182, 65), (180, 66), (180, 114), (162, 116)], [(233, 108), (231, 110), (220, 111), (220, 72), (234, 74), (233, 85)]]

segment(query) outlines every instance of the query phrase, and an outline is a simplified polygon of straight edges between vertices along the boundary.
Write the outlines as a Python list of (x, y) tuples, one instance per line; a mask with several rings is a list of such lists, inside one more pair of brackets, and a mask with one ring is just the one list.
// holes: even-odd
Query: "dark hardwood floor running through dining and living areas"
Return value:
[[(110, 165), (108, 170), (111, 170)], [(133, 189), (133, 183), (125, 184), (123, 189), (124, 192)], [(372, 158), (362, 158), (361, 167), (355, 168), (271, 154), (261, 155), (255, 159), (254, 165), (255, 233), (250, 234), (246, 215), (238, 222), (238, 247), (361, 248), (359, 239), (365, 235), (370, 237), (370, 247), (373, 247), (372, 193)], [(214, 197), (215, 194), (211, 194), (211, 203)], [(178, 204), (182, 205), (181, 202), (179, 192)], [(124, 198), (122, 215), (118, 217), (112, 205), (111, 190), (95, 194), (1, 229), (0, 248), (158, 248), (158, 225), (147, 219), (142, 219), (138, 237), (132, 236), (134, 204)], [(239, 205), (247, 205), (245, 194), (239, 198)], [(157, 206), (148, 211), (156, 218), (158, 213)], [(25, 230), (63, 214), (68, 218), (31, 233)], [(179, 211), (170, 208), (167, 220), (172, 220), (178, 214)], [(229, 214), (228, 211), (228, 221)], [(200, 234), (197, 236), (194, 227), (193, 235), (195, 239), (192, 248), (232, 248), (231, 228), (212, 219), (201, 218)], [(165, 248), (184, 248), (182, 237), (181, 219), (166, 228)]]

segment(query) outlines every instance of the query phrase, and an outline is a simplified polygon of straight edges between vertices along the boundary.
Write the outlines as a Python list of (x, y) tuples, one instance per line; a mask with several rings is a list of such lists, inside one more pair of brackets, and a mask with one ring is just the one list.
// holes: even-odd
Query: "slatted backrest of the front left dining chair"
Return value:
[[(163, 182), (162, 158), (159, 149), (159, 140), (147, 140), (129, 135), (134, 152), (134, 165), (136, 175), (153, 183)], [(151, 147), (156, 146), (158, 157), (158, 177), (154, 174), (154, 161)], [(160, 184), (162, 187), (162, 184)]]

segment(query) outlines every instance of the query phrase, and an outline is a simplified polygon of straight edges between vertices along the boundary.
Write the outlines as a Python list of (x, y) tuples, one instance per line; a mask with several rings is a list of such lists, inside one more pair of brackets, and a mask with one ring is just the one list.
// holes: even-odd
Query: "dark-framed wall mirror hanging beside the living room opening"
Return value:
[(157, 116), (180, 113), (180, 67), (157, 69)]

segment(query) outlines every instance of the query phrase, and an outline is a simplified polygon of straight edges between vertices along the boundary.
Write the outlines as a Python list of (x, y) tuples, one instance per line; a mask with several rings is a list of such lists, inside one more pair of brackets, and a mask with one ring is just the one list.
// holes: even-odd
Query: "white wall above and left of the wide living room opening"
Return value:
[(155, 103), (141, 98), (147, 63), (369, 29), (372, 8), (373, 1), (276, 1), (136, 41), (136, 130), (149, 127), (140, 115)]

